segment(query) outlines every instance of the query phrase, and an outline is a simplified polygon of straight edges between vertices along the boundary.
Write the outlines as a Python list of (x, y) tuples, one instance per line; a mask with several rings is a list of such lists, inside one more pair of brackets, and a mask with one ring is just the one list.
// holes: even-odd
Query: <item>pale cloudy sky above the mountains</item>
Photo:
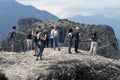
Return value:
[(104, 15), (120, 18), (120, 0), (16, 0), (37, 9), (46, 10), (59, 18), (74, 15)]

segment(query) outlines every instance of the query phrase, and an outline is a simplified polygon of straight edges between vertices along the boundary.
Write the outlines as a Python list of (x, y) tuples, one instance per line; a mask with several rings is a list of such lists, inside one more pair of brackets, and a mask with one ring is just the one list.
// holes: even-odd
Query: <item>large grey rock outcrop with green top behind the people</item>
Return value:
[[(113, 29), (110, 26), (107, 25), (87, 25), (87, 24), (82, 24), (82, 23), (74, 23), (70, 21), (56, 21), (56, 22), (47, 22), (47, 23), (38, 23), (36, 26), (34, 25), (33, 27), (37, 27), (38, 25), (41, 25), (45, 27), (46, 25), (49, 26), (54, 26), (57, 25), (59, 29), (59, 40), (63, 44), (65, 43), (64, 46), (67, 46), (67, 31), (70, 27), (75, 28), (78, 26), (80, 28), (80, 44), (79, 44), (79, 49), (82, 50), (87, 50), (89, 51), (90, 49), (90, 43), (91, 41), (89, 40), (90, 35), (94, 32), (97, 32), (98, 36), (98, 54), (104, 55), (106, 57), (110, 57), (112, 54), (112, 51), (115, 51), (118, 49), (118, 42), (115, 37), (115, 33)], [(48, 31), (49, 30), (48, 26)], [(49, 32), (50, 33), (50, 32)], [(74, 43), (74, 41), (73, 41)], [(74, 45), (73, 45), (74, 47)]]

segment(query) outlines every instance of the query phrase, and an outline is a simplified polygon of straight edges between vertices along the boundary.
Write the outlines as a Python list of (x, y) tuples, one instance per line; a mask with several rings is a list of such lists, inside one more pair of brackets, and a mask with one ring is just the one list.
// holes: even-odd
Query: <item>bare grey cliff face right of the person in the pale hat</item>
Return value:
[(88, 27), (83, 27), (80, 30), (81, 42), (79, 48), (82, 50), (90, 49), (90, 42), (84, 42), (89, 39), (90, 34), (97, 32), (98, 36), (98, 51), (100, 55), (110, 57), (112, 51), (118, 49), (117, 39), (115, 37), (114, 31), (111, 27), (106, 25), (88, 25)]

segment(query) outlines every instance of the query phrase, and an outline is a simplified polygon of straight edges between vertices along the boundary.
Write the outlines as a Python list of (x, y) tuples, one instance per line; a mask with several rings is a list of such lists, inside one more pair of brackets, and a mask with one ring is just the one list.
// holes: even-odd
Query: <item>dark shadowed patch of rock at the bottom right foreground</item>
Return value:
[(61, 61), (36, 80), (120, 80), (120, 65), (90, 60)]

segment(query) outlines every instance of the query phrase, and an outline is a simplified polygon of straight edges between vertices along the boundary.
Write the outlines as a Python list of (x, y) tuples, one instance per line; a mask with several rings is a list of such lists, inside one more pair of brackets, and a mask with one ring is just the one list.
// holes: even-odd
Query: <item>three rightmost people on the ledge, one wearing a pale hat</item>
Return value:
[[(75, 30), (73, 28), (68, 29), (68, 53), (72, 54), (71, 48), (74, 42), (74, 49), (76, 53), (79, 53), (79, 42), (80, 42), (80, 31), (79, 27), (76, 27)], [(97, 33), (92, 33), (91, 37), (91, 47), (90, 47), (90, 54), (96, 54), (97, 52)]]

